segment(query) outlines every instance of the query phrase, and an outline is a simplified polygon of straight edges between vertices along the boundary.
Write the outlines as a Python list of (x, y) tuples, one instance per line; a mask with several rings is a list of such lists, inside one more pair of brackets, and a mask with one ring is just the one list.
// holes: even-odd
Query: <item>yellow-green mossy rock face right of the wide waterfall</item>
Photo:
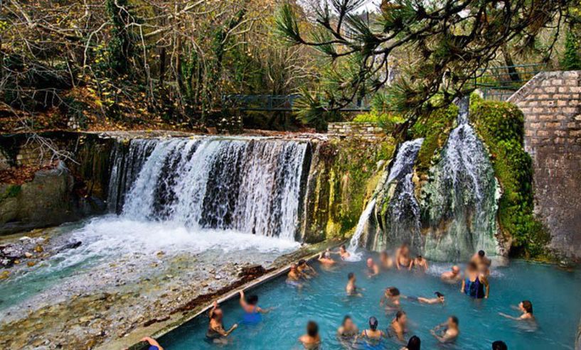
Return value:
[(311, 243), (344, 238), (357, 225), (395, 143), (390, 138), (378, 142), (351, 139), (312, 146), (302, 239)]

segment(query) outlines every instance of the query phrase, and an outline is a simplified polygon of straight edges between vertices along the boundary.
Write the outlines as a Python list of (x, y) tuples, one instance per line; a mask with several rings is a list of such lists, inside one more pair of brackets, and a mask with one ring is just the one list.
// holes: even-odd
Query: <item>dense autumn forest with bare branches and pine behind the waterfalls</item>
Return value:
[(366, 2), (0, 1), (0, 131), (206, 131), (228, 127), (225, 95), (297, 93), (244, 126), (324, 128), (363, 98), (420, 114), (486, 67), (581, 69), (579, 1)]

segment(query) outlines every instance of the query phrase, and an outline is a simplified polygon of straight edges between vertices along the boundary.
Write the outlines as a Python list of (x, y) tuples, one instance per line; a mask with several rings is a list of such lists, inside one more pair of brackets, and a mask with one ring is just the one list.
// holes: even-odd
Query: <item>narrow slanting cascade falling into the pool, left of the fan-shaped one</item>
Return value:
[[(419, 244), (420, 207), (414, 196), (413, 165), (422, 146), (423, 138), (403, 143), (395, 157), (388, 176), (378, 185), (378, 193), (369, 202), (359, 219), (351, 239), (351, 250), (358, 246), (379, 251), (390, 244), (412, 241)], [(370, 224), (373, 212), (386, 208), (385, 219), (374, 230)]]

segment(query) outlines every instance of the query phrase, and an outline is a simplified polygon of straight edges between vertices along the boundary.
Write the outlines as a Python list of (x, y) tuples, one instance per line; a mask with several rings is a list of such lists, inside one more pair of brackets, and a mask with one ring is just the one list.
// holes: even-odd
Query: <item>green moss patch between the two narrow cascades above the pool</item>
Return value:
[(410, 130), (412, 138), (424, 138), (415, 163), (415, 169), (420, 177), (427, 173), (432, 158), (444, 147), (457, 115), (458, 107), (452, 104), (448, 108), (437, 109), (419, 119)]

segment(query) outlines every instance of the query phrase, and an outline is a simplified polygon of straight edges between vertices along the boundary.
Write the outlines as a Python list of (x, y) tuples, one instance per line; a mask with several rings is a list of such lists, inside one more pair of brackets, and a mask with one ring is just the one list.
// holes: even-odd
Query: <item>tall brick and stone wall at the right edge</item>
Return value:
[(525, 148), (533, 158), (535, 212), (551, 245), (581, 259), (581, 71), (542, 72), (508, 102), (525, 115)]

